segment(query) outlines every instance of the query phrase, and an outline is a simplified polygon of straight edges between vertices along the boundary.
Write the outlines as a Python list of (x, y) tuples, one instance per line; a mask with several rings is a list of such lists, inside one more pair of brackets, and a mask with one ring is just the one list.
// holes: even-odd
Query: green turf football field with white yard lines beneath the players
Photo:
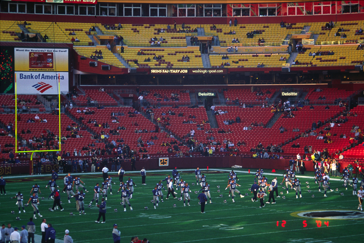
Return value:
[[(225, 169), (226, 170), (226, 169)], [(203, 171), (207, 181), (210, 184), (210, 191), (213, 204), (207, 204), (206, 213), (200, 213), (197, 194), (195, 191), (200, 187), (192, 186), (192, 182), (196, 183), (193, 173), (181, 173), (181, 178), (191, 185), (191, 206), (183, 207), (183, 201), (170, 198), (165, 200), (166, 192), (164, 192), (164, 202), (160, 202), (156, 210), (153, 209), (151, 190), (155, 183), (160, 179), (164, 179), (167, 172), (149, 172), (147, 175), (147, 185), (141, 185), (141, 177), (138, 174), (127, 174), (124, 176), (126, 180), (129, 176), (133, 178), (137, 187), (134, 188), (134, 194), (130, 202), (133, 211), (127, 206), (127, 212), (123, 211), (120, 205), (120, 194), (116, 194), (118, 189), (118, 178), (115, 175), (113, 180), (113, 195), (108, 195), (106, 224), (96, 224), (94, 221), (98, 216), (98, 208), (93, 203), (92, 208), (86, 208), (86, 215), (78, 215), (75, 210), (74, 199), (72, 203), (67, 203), (66, 194), (61, 193), (61, 201), (65, 211), (51, 212), (48, 209), (52, 206), (52, 201), (40, 200), (39, 210), (43, 218), (47, 219), (47, 223), (52, 223), (57, 231), (57, 239), (63, 239), (65, 229), (70, 230), (70, 235), (76, 243), (99, 243), (113, 242), (112, 228), (113, 224), (118, 224), (121, 231), (121, 243), (129, 243), (132, 236), (139, 236), (139, 239), (147, 237), (152, 243), (188, 243), (188, 242), (209, 242), (209, 243), (225, 243), (225, 242), (247, 242), (247, 241), (269, 241), (273, 242), (299, 242), (299, 243), (351, 243), (358, 242), (363, 239), (364, 220), (321, 220), (321, 227), (317, 227), (316, 220), (298, 217), (295, 213), (299, 211), (317, 211), (317, 210), (350, 210), (357, 211), (358, 197), (352, 195), (352, 188), (342, 186), (342, 181), (331, 180), (331, 188), (339, 188), (339, 191), (329, 192), (328, 197), (323, 197), (323, 193), (318, 192), (318, 186), (314, 184), (313, 173), (307, 173), (305, 176), (310, 178), (301, 178), (302, 198), (296, 199), (295, 191), (289, 191), (286, 194), (279, 187), (279, 191), (284, 192), (285, 199), (277, 198), (276, 204), (266, 204), (265, 208), (260, 209), (259, 202), (252, 202), (252, 194), (248, 191), (253, 183), (253, 174), (239, 173), (246, 172), (247, 169), (235, 169), (242, 185), (238, 189), (242, 194), (248, 193), (248, 196), (240, 198), (235, 197), (235, 203), (228, 196), (229, 191), (225, 191), (227, 185), (228, 172)], [(254, 171), (254, 170), (252, 170)], [(265, 171), (267, 173), (268, 171)], [(281, 182), (282, 171), (277, 171), (278, 181)], [(73, 175), (74, 176), (74, 175)], [(93, 190), (96, 182), (101, 183), (101, 175), (80, 175), (86, 188)], [(266, 175), (270, 182), (274, 176)], [(18, 191), (24, 194), (24, 201), (29, 199), (29, 193), (34, 183), (41, 185), (42, 195), (48, 197), (50, 191), (45, 188), (50, 176), (33, 177), (33, 178), (6, 178), (7, 179), (7, 195), (0, 196), (0, 223), (11, 223), (13, 227), (21, 227), (26, 225), (29, 218), (33, 215), (31, 207), (26, 208), (27, 213), (18, 214), (16, 199), (9, 199)], [(61, 177), (60, 177), (61, 178)], [(63, 178), (63, 176), (62, 176)], [(311, 193), (305, 183), (309, 182)], [(58, 184), (63, 184), (63, 180), (58, 180)], [(165, 181), (163, 183), (166, 185)], [(217, 186), (220, 186), (220, 193), (217, 192)], [(166, 188), (166, 186), (165, 186)], [(344, 195), (340, 195), (341, 193)], [(179, 193), (179, 191), (178, 191)], [(219, 195), (223, 194), (221, 198)], [(312, 194), (315, 195), (312, 198)], [(85, 204), (92, 199), (93, 193), (86, 194)], [(282, 196), (282, 195), (281, 195)], [(223, 201), (227, 200), (227, 203)], [(265, 199), (265, 202), (267, 198)], [(174, 208), (173, 204), (177, 207)], [(148, 210), (145, 210), (145, 207)], [(117, 212), (114, 211), (117, 209)], [(15, 211), (15, 214), (11, 214)], [(70, 216), (73, 212), (75, 215)], [(17, 221), (16, 217), (20, 220)], [(281, 227), (282, 221), (285, 220), (285, 227)], [(277, 227), (277, 221), (279, 226)], [(303, 221), (307, 226), (303, 227)], [(40, 231), (41, 219), (38, 217), (34, 220), (37, 226), (37, 232)], [(329, 222), (327, 227), (324, 222)], [(361, 242), (359, 240), (359, 242)]]

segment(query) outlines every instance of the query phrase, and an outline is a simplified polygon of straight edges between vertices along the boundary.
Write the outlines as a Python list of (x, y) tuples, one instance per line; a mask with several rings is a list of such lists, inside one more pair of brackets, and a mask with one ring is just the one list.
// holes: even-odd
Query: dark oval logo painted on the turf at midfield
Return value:
[(325, 210), (325, 211), (304, 211), (296, 212), (299, 217), (315, 219), (364, 219), (364, 212), (349, 210)]

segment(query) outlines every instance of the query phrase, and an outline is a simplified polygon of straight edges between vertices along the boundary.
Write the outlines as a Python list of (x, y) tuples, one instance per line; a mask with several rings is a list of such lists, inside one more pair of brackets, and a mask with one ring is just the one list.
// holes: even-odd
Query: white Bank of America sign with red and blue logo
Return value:
[(15, 72), (17, 94), (58, 95), (58, 77), (61, 92), (68, 92), (68, 72)]

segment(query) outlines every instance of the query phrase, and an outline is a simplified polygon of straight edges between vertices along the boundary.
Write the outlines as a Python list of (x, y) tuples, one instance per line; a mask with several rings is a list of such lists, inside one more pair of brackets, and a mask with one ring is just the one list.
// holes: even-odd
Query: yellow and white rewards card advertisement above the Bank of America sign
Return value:
[(14, 48), (15, 71), (68, 71), (68, 49)]

